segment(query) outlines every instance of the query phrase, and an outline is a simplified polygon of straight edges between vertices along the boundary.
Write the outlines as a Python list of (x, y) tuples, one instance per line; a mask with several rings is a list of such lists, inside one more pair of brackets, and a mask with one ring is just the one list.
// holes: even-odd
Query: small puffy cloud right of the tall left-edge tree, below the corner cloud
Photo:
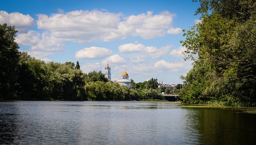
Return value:
[(40, 42), (40, 33), (28, 31), (28, 33), (18, 33), (16, 40), (19, 45), (32, 46)]

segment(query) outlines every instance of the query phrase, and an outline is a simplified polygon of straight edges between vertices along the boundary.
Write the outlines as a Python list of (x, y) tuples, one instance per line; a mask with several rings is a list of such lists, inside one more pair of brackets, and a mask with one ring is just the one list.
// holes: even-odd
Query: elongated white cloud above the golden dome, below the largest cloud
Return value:
[(127, 43), (120, 45), (118, 47), (119, 52), (121, 53), (148, 53), (148, 55), (153, 58), (159, 58), (162, 55), (168, 53), (169, 49), (172, 47), (172, 45), (166, 45), (160, 49), (153, 46), (144, 46), (142, 44), (133, 44), (133, 43)]

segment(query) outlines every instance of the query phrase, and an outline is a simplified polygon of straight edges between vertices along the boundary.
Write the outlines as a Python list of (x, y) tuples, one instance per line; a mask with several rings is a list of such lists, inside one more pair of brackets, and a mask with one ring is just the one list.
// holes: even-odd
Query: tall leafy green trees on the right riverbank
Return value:
[(182, 103), (255, 107), (256, 1), (199, 1), (201, 22), (181, 41), (186, 60), (194, 61), (181, 76)]

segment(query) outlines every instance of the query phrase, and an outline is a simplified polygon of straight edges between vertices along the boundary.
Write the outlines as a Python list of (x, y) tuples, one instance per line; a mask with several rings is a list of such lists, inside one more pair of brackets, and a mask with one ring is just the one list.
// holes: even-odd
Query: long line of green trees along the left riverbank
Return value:
[(35, 59), (18, 51), (16, 33), (14, 26), (0, 25), (0, 100), (165, 100), (153, 78), (131, 89), (108, 81), (101, 71), (82, 72), (79, 62)]

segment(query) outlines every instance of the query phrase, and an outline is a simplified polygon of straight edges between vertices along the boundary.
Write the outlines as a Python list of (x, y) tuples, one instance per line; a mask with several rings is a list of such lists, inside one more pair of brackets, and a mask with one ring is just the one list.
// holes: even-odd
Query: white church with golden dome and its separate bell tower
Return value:
[[(111, 68), (108, 66), (105, 67), (105, 77), (108, 78), (108, 80), (111, 80), (111, 73), (110, 73)], [(124, 70), (122, 76), (120, 79), (114, 81), (117, 82), (118, 84), (122, 84), (122, 85), (126, 85), (132, 88), (132, 82), (129, 80), (129, 75), (126, 72), (126, 70)]]

